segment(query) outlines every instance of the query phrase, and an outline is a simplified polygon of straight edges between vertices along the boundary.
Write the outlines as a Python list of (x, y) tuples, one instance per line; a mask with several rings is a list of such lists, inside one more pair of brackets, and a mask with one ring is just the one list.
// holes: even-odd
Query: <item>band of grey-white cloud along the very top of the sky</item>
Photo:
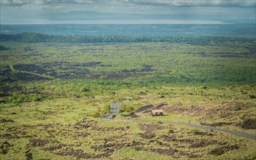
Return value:
[(138, 4), (168, 5), (174, 7), (255, 7), (255, 0), (1, 0), (1, 4), (23, 6), (25, 4)]

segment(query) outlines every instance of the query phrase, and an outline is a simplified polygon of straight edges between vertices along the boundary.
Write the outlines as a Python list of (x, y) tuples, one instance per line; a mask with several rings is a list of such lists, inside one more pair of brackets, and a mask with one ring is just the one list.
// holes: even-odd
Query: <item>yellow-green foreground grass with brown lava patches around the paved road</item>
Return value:
[[(245, 89), (246, 86), (239, 89), (241, 88)], [(144, 89), (147, 91), (141, 95)], [(249, 106), (255, 107), (255, 102), (249, 96), (243, 95), (244, 98), (237, 100), (236, 96), (241, 95), (230, 92), (229, 87), (224, 92), (213, 88), (203, 89), (208, 92), (207, 96), (191, 95), (190, 89), (199, 91), (201, 88), (121, 89), (116, 90), (113, 97), (94, 95), (94, 98), (68, 97), (19, 105), (1, 105), (1, 119), (12, 119), (0, 125), (1, 144), (10, 144), (2, 149), (4, 153), (0, 154), (1, 159), (26, 159), (28, 155), (32, 155), (34, 159), (254, 159), (255, 140), (246, 140), (223, 132), (208, 132), (161, 123), (180, 121), (212, 124), (217, 121), (232, 121), (240, 124), (243, 119), (239, 116), (246, 114), (244, 117), (248, 119), (255, 118), (252, 108), (247, 105), (236, 111), (238, 117), (232, 114), (224, 119), (219, 115), (221, 110), (213, 115), (208, 114), (209, 110), (213, 112), (221, 104), (223, 111), (227, 112), (225, 102), (242, 104), (241, 102), (246, 101), (252, 103)], [(252, 92), (253, 89), (247, 90)], [(160, 98), (162, 92), (165, 92), (165, 97)], [(226, 94), (226, 97), (220, 99), (220, 93)], [(102, 103), (110, 103), (111, 98), (118, 100), (126, 95), (130, 95), (130, 100), (123, 101), (121, 105), (132, 106), (135, 114), (140, 116), (136, 119), (159, 121), (159, 124), (103, 121), (92, 117), (97, 108), (102, 108)], [(207, 101), (209, 97), (210, 102)], [(152, 117), (148, 113), (136, 112), (138, 108), (149, 104), (164, 104), (162, 107), (165, 116)], [(202, 105), (203, 109), (198, 114), (196, 108)], [(177, 106), (193, 108), (196, 112), (176, 110)], [(127, 114), (129, 112), (123, 112), (116, 119), (134, 119), (125, 116)], [(254, 133), (254, 129), (242, 129), (234, 124), (220, 127)]]

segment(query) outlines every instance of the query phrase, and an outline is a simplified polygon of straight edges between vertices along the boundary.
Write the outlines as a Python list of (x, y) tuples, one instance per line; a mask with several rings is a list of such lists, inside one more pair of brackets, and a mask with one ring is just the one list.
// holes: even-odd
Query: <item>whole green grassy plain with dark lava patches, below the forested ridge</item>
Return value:
[[(255, 159), (255, 140), (162, 123), (256, 135), (254, 44), (1, 41), (0, 159)], [(99, 119), (113, 102), (156, 123)]]

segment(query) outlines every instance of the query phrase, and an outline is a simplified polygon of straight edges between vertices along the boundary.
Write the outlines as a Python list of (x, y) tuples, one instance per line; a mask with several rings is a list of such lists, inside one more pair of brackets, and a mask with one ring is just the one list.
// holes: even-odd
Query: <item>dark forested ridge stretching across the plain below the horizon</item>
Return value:
[(129, 42), (167, 42), (181, 44), (209, 44), (225, 41), (252, 41), (252, 39), (215, 36), (54, 36), (42, 33), (0, 34), (0, 41), (21, 41), (26, 43), (129, 43)]

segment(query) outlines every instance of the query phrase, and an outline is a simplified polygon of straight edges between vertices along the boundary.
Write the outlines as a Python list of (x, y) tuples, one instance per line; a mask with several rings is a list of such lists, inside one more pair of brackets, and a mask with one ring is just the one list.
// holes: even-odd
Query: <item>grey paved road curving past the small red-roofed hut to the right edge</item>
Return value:
[[(110, 106), (110, 114), (108, 116), (102, 117), (102, 119), (105, 120), (111, 120), (111, 121), (135, 121), (135, 122), (139, 122), (139, 123), (157, 123), (157, 121), (150, 121), (150, 120), (143, 120), (143, 119), (132, 119), (132, 120), (128, 120), (128, 119), (112, 119), (112, 115), (113, 114), (118, 114), (118, 106), (120, 103), (113, 103)], [(214, 130), (214, 131), (219, 131), (219, 132), (227, 132), (230, 133), (231, 135), (236, 135), (238, 137), (246, 137), (252, 140), (256, 140), (256, 135), (251, 135), (248, 133), (244, 133), (244, 132), (234, 132), (234, 131), (230, 131), (227, 129), (220, 129), (220, 128), (216, 128), (216, 127), (208, 127), (208, 126), (202, 126), (202, 125), (198, 125), (198, 124), (185, 124), (185, 123), (181, 123), (181, 122), (175, 122), (175, 121), (162, 121), (163, 123), (167, 123), (167, 124), (180, 124), (180, 125), (184, 125), (184, 126), (188, 126), (188, 127), (193, 127), (193, 128), (198, 128), (198, 129), (206, 129), (206, 130)]]

